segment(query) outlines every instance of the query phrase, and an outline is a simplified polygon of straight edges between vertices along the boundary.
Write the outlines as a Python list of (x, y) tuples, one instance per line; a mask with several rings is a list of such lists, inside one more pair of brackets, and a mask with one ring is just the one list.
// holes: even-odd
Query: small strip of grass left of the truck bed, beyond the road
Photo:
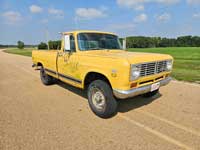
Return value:
[(31, 57), (32, 50), (33, 50), (33, 48), (25, 48), (25, 49), (8, 48), (8, 49), (4, 50), (4, 52)]

